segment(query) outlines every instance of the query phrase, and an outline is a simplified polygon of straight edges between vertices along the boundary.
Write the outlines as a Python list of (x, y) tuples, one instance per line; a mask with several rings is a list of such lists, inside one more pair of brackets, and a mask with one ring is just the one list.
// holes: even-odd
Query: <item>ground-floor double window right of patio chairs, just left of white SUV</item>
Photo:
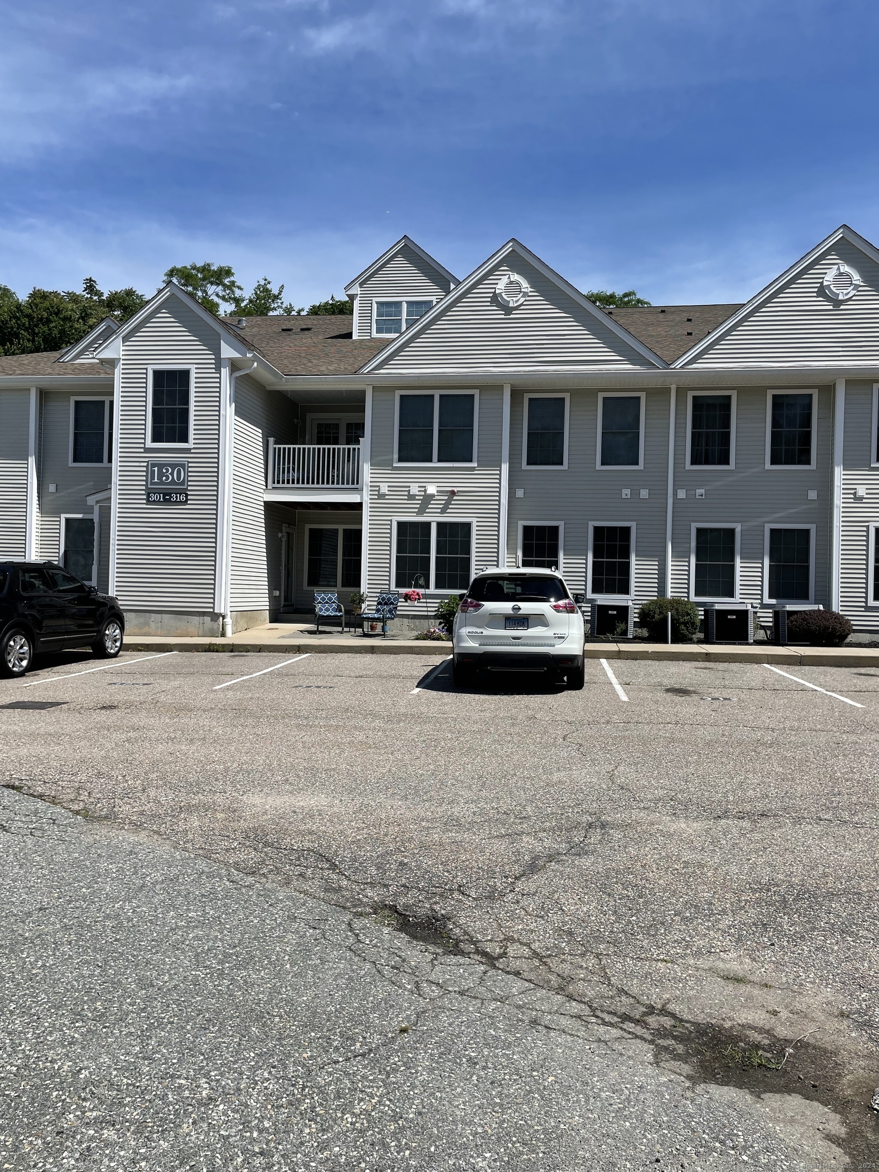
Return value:
[(473, 523), (398, 520), (394, 588), (464, 591), (472, 578)]

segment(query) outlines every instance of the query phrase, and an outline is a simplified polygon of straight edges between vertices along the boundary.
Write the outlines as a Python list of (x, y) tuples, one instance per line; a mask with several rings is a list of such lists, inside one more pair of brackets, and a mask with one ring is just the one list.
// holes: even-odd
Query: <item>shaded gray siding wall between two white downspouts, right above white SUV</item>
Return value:
[[(620, 388), (614, 388), (620, 389)], [(546, 391), (552, 394), (552, 391)], [(561, 394), (561, 391), (559, 391)], [(636, 391), (633, 391), (636, 394)], [(507, 565), (516, 564), (519, 523), (564, 523), (563, 573), (573, 592), (586, 581), (590, 523), (635, 525), (633, 598), (641, 602), (661, 592), (666, 557), (668, 391), (647, 391), (643, 469), (597, 469), (598, 390), (571, 391), (567, 469), (523, 469), (525, 394), (510, 402), (510, 504)], [(524, 497), (517, 498), (516, 490)], [(622, 490), (632, 491), (624, 498)], [(641, 499), (640, 490), (649, 497)]]

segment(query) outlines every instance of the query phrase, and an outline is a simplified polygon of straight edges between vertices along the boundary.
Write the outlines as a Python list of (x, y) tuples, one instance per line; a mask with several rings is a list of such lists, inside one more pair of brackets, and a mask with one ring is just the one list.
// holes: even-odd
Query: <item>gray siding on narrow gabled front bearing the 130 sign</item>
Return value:
[[(195, 367), (193, 445), (145, 447), (146, 368)], [(123, 341), (118, 408), (116, 594), (148, 612), (214, 613), (219, 437), (219, 334), (169, 298)], [(145, 503), (146, 461), (189, 461), (189, 504)]]

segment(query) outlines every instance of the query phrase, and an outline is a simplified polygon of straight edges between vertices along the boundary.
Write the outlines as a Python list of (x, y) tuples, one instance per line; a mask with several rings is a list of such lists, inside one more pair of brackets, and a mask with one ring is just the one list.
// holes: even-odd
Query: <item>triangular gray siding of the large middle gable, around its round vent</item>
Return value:
[[(531, 292), (520, 306), (506, 309), (498, 304), (495, 288), (513, 264)], [(595, 316), (584, 308), (524, 258), (507, 258), (381, 369), (441, 374), (650, 369), (655, 364), (619, 338), (604, 314)]]

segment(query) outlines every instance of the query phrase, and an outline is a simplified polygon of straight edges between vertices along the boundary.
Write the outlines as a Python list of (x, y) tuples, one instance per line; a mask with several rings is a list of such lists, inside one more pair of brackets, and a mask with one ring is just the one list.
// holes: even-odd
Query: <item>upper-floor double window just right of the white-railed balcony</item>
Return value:
[(475, 464), (477, 391), (397, 397), (397, 464)]

